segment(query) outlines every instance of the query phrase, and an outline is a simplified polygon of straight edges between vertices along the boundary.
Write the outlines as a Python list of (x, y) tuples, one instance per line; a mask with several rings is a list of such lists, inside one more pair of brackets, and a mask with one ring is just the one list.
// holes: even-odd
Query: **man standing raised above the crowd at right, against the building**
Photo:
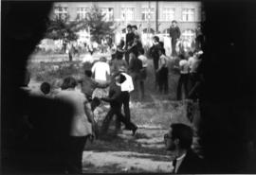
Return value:
[(176, 43), (177, 43), (177, 39), (179, 39), (180, 37), (180, 29), (177, 26), (177, 22), (174, 20), (172, 21), (172, 26), (170, 26), (170, 37), (172, 38), (172, 56), (176, 56)]

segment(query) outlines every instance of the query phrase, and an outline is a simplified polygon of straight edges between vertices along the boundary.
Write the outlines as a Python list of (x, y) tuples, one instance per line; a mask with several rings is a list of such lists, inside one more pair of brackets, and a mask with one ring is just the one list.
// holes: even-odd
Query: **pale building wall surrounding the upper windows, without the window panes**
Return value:
[[(93, 4), (97, 4), (100, 8), (113, 8), (114, 9), (114, 21), (118, 26), (116, 33), (121, 35), (122, 29), (128, 24), (141, 26), (138, 29), (140, 32), (144, 28), (151, 27), (155, 30), (155, 11), (153, 18), (149, 21), (142, 21), (142, 8), (154, 8), (156, 2), (147, 1), (131, 1), (131, 2), (59, 2), (55, 3), (55, 6), (67, 7), (67, 13), (70, 16), (70, 20), (74, 20), (77, 17), (78, 7), (92, 7)], [(134, 8), (135, 19), (133, 21), (121, 20), (121, 8)], [(178, 22), (178, 26), (181, 31), (186, 29), (195, 29), (198, 23), (201, 21), (201, 3), (200, 2), (158, 2), (158, 31), (162, 33), (165, 29), (171, 26), (171, 21), (164, 21), (162, 19), (163, 8), (174, 8), (174, 20)], [(182, 9), (195, 9), (195, 18), (193, 22), (182, 21)], [(149, 23), (150, 22), (150, 23)]]

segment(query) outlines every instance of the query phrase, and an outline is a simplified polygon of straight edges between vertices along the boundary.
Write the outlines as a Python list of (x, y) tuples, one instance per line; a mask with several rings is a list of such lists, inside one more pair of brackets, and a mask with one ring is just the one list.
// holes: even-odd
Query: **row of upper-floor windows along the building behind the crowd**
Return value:
[[(104, 18), (106, 21), (114, 20), (114, 9), (113, 8), (101, 8)], [(163, 8), (161, 20), (172, 21), (174, 20), (175, 9), (174, 8)], [(59, 18), (67, 16), (66, 7), (56, 7), (54, 9), (55, 14)], [(79, 20), (86, 17), (86, 13), (89, 12), (89, 8), (77, 8), (77, 16)], [(149, 21), (154, 19), (155, 9), (154, 8), (142, 8), (141, 9), (141, 20)], [(121, 8), (121, 20), (122, 21), (134, 21), (135, 20), (135, 8)], [(195, 21), (195, 9), (182, 9), (182, 21), (194, 22)]]

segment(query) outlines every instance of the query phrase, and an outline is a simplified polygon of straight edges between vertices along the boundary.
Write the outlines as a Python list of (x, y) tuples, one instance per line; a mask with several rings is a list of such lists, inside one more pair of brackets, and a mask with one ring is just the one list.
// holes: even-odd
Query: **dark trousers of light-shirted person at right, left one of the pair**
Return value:
[(189, 82), (189, 74), (180, 74), (180, 77), (178, 79), (178, 85), (177, 85), (177, 100), (181, 99), (182, 86), (184, 86), (185, 98), (189, 96), (188, 82)]

